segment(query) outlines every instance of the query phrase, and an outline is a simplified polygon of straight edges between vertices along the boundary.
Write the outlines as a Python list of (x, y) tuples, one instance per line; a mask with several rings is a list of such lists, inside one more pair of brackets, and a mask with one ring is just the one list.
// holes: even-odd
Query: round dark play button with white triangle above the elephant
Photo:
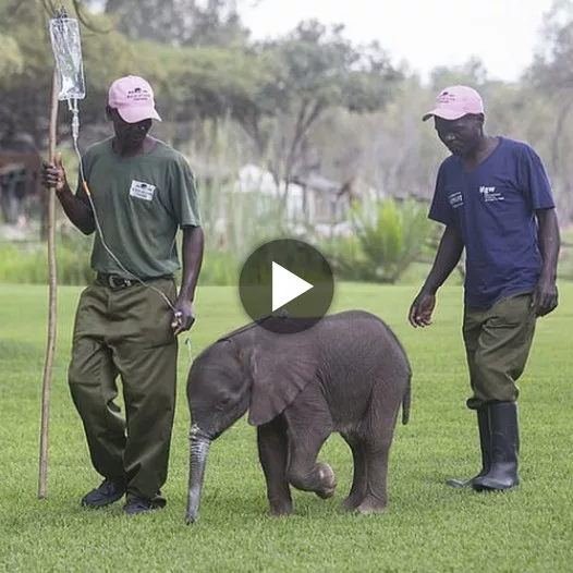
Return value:
[[(277, 333), (301, 332), (318, 322), (334, 294), (327, 259), (309, 244), (280, 239), (259, 246), (241, 270), (239, 294), (254, 321)], [(269, 315), (296, 318), (261, 320)], [(286, 325), (286, 326), (285, 326)]]

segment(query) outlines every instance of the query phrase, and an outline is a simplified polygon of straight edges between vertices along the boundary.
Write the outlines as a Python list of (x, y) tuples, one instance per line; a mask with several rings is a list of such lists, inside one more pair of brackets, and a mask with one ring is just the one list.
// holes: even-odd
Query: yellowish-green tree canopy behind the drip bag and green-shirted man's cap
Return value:
[[(53, 56), (48, 37), (45, 0), (0, 0), (0, 35), (8, 38), (2, 58), (2, 105), (16, 129), (46, 145)], [(244, 47), (175, 48), (150, 40), (131, 40), (106, 14), (82, 14), (82, 51), (87, 97), (81, 102), (81, 136), (105, 122), (103, 106), (110, 83), (125, 74), (139, 74), (156, 90), (160, 130), (171, 131), (173, 144), (187, 143), (187, 125), (205, 119), (241, 115), (254, 105), (260, 86), (269, 82), (263, 58)], [(70, 12), (72, 15), (72, 12)], [(74, 15), (78, 15), (73, 13)], [(3, 56), (3, 54), (2, 54)], [(60, 141), (70, 131), (69, 115), (60, 114)], [(101, 129), (97, 127), (98, 137)], [(85, 139), (84, 139), (85, 141)], [(89, 142), (86, 142), (86, 144)]]

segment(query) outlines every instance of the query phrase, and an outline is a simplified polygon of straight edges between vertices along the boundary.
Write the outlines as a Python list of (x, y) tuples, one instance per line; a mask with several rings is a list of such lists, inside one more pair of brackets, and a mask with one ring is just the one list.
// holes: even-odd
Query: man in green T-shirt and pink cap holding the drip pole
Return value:
[[(85, 153), (76, 193), (59, 157), (45, 163), (42, 180), (73, 224), (85, 234), (96, 231), (96, 279), (80, 298), (69, 385), (92, 462), (105, 479), (82, 504), (99, 508), (125, 496), (124, 511), (134, 515), (166, 504), (160, 488), (175, 406), (176, 337), (195, 321), (204, 236), (187, 161), (149, 135), (153, 120), (160, 121), (151, 86), (138, 76), (117, 80), (106, 113), (114, 136)], [(125, 419), (114, 403), (118, 375)]]

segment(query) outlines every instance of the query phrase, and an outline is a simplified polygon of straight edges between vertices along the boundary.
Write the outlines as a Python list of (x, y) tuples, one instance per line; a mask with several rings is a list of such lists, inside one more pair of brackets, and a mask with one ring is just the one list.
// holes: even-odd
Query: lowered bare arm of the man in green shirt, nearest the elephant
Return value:
[(183, 276), (178, 302), (175, 303), (175, 308), (181, 315), (179, 316), (179, 321), (174, 322), (175, 336), (188, 330), (195, 322), (193, 301), (203, 265), (204, 243), (202, 227), (185, 227), (183, 229)]

